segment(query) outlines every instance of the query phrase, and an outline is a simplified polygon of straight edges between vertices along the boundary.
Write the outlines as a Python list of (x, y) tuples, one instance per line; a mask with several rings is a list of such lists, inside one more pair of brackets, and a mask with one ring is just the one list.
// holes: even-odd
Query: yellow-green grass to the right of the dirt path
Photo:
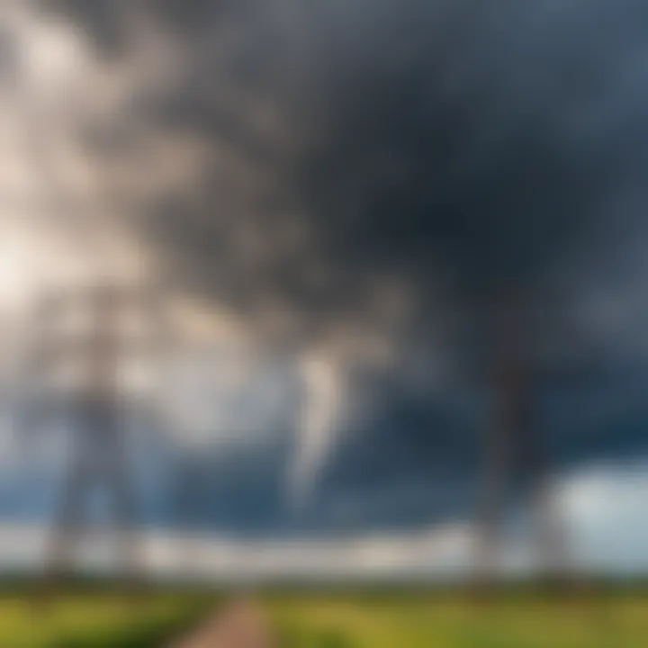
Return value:
[(279, 596), (284, 648), (644, 648), (648, 596)]

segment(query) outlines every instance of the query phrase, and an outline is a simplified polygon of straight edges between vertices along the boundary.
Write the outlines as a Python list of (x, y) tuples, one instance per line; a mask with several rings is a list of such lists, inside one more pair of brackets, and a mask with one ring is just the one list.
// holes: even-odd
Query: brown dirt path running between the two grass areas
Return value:
[(263, 609), (243, 599), (229, 604), (169, 648), (277, 648), (277, 644)]

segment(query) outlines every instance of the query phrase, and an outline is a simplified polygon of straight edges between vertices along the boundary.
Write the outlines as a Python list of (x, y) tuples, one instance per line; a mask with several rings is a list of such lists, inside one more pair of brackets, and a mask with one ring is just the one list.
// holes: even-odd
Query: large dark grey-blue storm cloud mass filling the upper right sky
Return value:
[(641, 88), (614, 98), (644, 56), (633, 2), (58, 4), (126, 60), (136, 19), (174, 36), (183, 73), (133, 111), (214, 155), (197, 193), (159, 187), (148, 221), (202, 288), (249, 308), (344, 317), (384, 275), (428, 312), (439, 283), (531, 291), (601, 236), (645, 137)]

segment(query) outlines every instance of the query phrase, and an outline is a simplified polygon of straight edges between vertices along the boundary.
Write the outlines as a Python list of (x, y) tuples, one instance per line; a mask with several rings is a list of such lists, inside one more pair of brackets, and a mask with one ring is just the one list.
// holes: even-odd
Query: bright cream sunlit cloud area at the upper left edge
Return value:
[(0, 74), (0, 298), (15, 300), (36, 280), (142, 273), (147, 250), (102, 205), (105, 174), (79, 134), (97, 112), (112, 118), (111, 97), (99, 92), (106, 70), (83, 32), (22, 0), (3, 3), (0, 22), (8, 58)]

